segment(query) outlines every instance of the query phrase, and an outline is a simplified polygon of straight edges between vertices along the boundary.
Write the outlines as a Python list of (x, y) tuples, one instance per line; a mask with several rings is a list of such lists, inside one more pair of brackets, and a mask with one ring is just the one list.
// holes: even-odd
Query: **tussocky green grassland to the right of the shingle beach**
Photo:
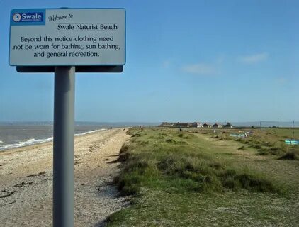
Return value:
[[(128, 133), (132, 139), (120, 150), (123, 164), (115, 183), (121, 194), (132, 195), (132, 206), (110, 216), (106, 226), (298, 223), (299, 162), (281, 158), (290, 149), (281, 143), (286, 135), (256, 130), (236, 140), (224, 130)], [(279, 152), (261, 155), (273, 147)]]

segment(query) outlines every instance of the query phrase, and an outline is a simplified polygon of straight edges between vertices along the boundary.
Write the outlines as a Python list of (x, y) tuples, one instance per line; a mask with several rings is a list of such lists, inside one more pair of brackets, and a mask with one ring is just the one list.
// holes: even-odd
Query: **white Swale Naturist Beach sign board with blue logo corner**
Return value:
[(9, 65), (125, 65), (125, 9), (13, 9)]

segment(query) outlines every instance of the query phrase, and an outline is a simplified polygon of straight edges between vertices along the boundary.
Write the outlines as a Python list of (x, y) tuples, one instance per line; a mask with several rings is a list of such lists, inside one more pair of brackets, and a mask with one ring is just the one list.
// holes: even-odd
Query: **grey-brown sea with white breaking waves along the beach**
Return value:
[[(75, 136), (105, 131), (109, 128), (132, 126), (157, 126), (159, 123), (146, 122), (77, 122)], [(45, 143), (53, 140), (52, 122), (0, 122), (0, 152), (12, 148)]]

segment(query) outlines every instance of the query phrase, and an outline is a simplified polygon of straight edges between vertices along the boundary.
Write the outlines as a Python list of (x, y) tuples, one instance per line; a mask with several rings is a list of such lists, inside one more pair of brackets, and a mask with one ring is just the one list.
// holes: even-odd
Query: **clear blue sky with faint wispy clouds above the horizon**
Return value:
[(298, 1), (0, 0), (0, 121), (52, 121), (54, 74), (9, 66), (9, 13), (126, 9), (121, 74), (76, 74), (76, 121), (299, 121)]

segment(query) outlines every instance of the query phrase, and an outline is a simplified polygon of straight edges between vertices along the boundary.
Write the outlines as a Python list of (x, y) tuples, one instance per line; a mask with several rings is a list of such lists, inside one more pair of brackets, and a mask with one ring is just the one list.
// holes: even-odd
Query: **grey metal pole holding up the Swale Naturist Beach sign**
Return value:
[(75, 67), (55, 67), (53, 226), (74, 226)]

